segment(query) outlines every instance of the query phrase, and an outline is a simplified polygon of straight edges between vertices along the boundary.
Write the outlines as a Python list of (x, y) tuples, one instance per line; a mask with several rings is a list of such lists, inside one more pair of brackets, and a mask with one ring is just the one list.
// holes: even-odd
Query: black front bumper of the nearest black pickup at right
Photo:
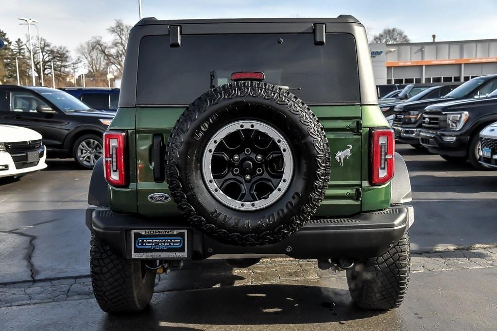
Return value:
[(438, 132), (421, 130), (419, 142), (428, 148), (431, 153), (449, 156), (466, 156), (469, 137), (466, 135), (452, 135), (444, 137), (455, 137), (453, 141), (442, 139)]

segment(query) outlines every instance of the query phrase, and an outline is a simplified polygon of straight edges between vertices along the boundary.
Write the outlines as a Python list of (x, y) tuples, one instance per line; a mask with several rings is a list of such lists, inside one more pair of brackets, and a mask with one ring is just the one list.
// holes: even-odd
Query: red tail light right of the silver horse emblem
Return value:
[(371, 185), (388, 183), (394, 177), (395, 139), (392, 129), (371, 130)]

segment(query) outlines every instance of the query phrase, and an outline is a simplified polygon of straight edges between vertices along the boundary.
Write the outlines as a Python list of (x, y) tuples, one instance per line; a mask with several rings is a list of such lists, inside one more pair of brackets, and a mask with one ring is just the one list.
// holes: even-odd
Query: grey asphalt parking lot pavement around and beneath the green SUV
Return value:
[(344, 272), (319, 270), (315, 261), (268, 259), (233, 269), (211, 260), (161, 275), (142, 315), (106, 315), (89, 280), (84, 210), (91, 172), (72, 160), (50, 160), (43, 172), (0, 183), (0, 329), (49, 329), (67, 321), (85, 330), (494, 329), (497, 173), (408, 145), (397, 150), (410, 170), (416, 213), (410, 290), (399, 309), (354, 308)]

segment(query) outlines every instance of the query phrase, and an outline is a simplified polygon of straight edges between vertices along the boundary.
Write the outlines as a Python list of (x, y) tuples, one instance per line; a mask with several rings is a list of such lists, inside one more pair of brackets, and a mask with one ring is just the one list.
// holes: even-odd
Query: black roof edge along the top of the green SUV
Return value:
[(286, 23), (286, 22), (312, 22), (312, 23), (359, 23), (351, 15), (339, 15), (334, 18), (213, 18), (213, 19), (173, 19), (159, 20), (155, 17), (142, 18), (135, 26), (141, 25), (171, 25), (171, 24), (202, 24), (202, 23)]

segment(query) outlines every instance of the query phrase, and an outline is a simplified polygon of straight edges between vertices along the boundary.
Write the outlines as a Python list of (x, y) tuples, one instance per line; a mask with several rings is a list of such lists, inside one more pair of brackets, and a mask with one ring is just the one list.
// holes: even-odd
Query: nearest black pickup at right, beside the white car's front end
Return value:
[(451, 162), (478, 162), (480, 132), (497, 121), (497, 89), (481, 99), (444, 102), (426, 107), (419, 134), (421, 145)]

